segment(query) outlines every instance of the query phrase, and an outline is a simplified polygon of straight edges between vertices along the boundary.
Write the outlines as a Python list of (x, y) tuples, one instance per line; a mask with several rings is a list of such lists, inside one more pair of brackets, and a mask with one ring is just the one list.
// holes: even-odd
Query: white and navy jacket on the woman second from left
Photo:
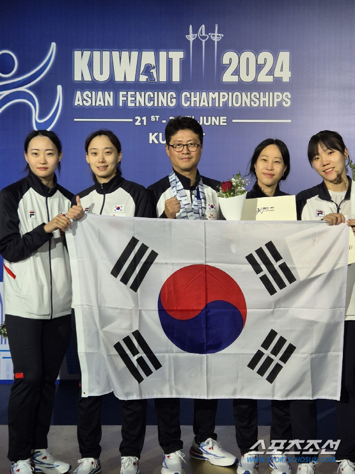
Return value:
[[(78, 195), (85, 212), (127, 217), (151, 217), (146, 188), (118, 172), (108, 183), (95, 182)], [(76, 198), (73, 198), (76, 204)]]

